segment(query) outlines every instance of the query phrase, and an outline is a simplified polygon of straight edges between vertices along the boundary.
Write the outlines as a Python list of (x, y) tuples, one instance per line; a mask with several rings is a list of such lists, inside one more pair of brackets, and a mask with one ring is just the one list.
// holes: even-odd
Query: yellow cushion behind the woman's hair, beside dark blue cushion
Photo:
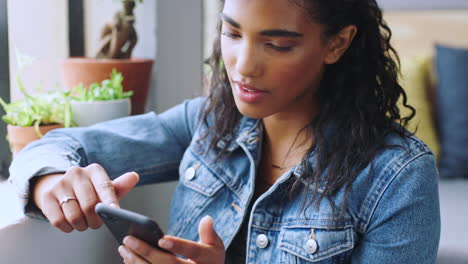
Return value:
[[(409, 122), (407, 128), (412, 132), (417, 129), (416, 136), (429, 146), (438, 160), (440, 146), (429, 94), (431, 71), (431, 56), (401, 59), (400, 83), (408, 96), (408, 104), (416, 109), (416, 116)], [(402, 116), (409, 114), (409, 110), (402, 107), (401, 99), (400, 109)]]

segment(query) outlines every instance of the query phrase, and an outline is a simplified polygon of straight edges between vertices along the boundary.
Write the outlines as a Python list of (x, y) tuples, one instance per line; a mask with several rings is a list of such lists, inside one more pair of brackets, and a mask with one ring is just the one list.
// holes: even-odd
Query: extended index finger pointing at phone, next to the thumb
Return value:
[(99, 199), (107, 205), (118, 206), (119, 202), (115, 195), (114, 184), (112, 184), (104, 168), (98, 164), (91, 164), (85, 170), (89, 170), (91, 173), (91, 182)]

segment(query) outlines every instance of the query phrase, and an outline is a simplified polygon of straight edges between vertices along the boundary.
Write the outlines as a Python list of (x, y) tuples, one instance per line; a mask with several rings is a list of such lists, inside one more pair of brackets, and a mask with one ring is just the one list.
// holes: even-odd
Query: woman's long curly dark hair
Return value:
[[(316, 201), (318, 205), (323, 198), (330, 200), (331, 195), (345, 188), (343, 201), (346, 201), (356, 176), (367, 166), (372, 168), (372, 161), (380, 151), (395, 147), (386, 145), (385, 137), (389, 133), (401, 137), (411, 135), (404, 127), (414, 117), (415, 109), (407, 104), (407, 96), (398, 83), (400, 61), (390, 44), (391, 30), (375, 0), (288, 1), (305, 8), (312, 21), (322, 25), (324, 38), (336, 35), (348, 25), (358, 29), (341, 59), (325, 66), (316, 92), (319, 113), (306, 128), (314, 144), (302, 161), (303, 175), (291, 189), (293, 194), (303, 186), (303, 180), (313, 184), (313, 196), (308, 204)], [(233, 133), (242, 114), (236, 108), (223, 65), (219, 36), (206, 63), (211, 68), (210, 103), (203, 119), (207, 124), (210, 115), (222, 117), (215, 118), (210, 127), (214, 132), (210, 144), (213, 148), (225, 135)], [(397, 104), (400, 97), (403, 106), (410, 109), (408, 116), (400, 115)], [(331, 125), (336, 131), (332, 134), (326, 131)], [(313, 169), (309, 164), (312, 152), (317, 157)], [(345, 208), (343, 202), (340, 211), (343, 213)]]

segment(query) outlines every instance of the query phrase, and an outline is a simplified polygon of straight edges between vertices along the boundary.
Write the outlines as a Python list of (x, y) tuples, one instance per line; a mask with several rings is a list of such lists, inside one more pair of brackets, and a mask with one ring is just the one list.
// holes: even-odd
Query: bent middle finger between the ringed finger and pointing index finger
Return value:
[(94, 207), (99, 200), (92, 183), (89, 179), (80, 179), (80, 181), (76, 182), (74, 189), (78, 204), (80, 205), (88, 226), (93, 229), (99, 228), (102, 225), (102, 221), (94, 211)]

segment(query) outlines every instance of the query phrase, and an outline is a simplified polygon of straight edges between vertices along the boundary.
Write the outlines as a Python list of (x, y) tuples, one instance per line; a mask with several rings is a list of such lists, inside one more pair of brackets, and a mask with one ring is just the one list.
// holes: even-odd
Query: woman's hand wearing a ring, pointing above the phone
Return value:
[(63, 174), (41, 177), (34, 185), (33, 197), (50, 223), (63, 232), (99, 228), (95, 213), (98, 202), (119, 206), (119, 200), (138, 182), (138, 174), (126, 173), (111, 181), (104, 168), (91, 164), (71, 167)]

